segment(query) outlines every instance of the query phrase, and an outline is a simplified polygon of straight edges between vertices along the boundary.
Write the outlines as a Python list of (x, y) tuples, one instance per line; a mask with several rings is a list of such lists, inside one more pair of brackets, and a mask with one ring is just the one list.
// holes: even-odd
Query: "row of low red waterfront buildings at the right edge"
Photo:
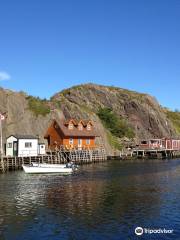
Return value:
[(166, 149), (166, 150), (180, 150), (179, 139), (149, 139), (143, 140), (139, 144), (140, 149)]

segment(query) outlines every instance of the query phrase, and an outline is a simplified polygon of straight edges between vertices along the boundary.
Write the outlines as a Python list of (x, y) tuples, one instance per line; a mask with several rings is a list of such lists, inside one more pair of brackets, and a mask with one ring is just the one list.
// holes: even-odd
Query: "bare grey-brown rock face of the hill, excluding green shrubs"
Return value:
[(4, 139), (10, 134), (33, 134), (42, 140), (52, 119), (90, 118), (100, 133), (99, 142), (110, 153), (107, 131), (96, 114), (99, 107), (111, 108), (120, 118), (126, 119), (136, 133), (134, 141), (176, 136), (163, 108), (146, 94), (94, 84), (79, 85), (55, 94), (49, 102), (51, 111), (45, 116), (36, 116), (29, 109), (26, 97), (24, 93), (0, 89), (0, 112), (7, 112), (3, 122)]

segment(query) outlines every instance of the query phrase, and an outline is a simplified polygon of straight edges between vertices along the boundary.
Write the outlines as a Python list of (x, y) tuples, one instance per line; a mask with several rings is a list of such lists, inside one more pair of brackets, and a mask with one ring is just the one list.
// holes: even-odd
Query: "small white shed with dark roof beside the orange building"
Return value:
[(28, 157), (38, 155), (38, 137), (10, 135), (6, 139), (6, 156)]

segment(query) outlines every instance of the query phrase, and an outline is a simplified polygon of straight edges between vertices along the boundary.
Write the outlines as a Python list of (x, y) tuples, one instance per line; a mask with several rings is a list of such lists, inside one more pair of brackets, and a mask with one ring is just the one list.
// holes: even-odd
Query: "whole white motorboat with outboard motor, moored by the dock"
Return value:
[(32, 165), (23, 165), (25, 173), (72, 173), (77, 169), (73, 164), (46, 164), (33, 163)]

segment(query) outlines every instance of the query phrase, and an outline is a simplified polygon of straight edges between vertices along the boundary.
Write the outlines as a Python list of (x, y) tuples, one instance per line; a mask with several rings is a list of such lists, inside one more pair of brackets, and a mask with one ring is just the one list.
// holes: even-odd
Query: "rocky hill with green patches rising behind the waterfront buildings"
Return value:
[(139, 139), (180, 133), (180, 114), (162, 108), (152, 96), (95, 84), (63, 90), (49, 101), (1, 88), (0, 111), (7, 112), (4, 138), (18, 133), (39, 135), (43, 140), (52, 119), (90, 118), (108, 152)]

